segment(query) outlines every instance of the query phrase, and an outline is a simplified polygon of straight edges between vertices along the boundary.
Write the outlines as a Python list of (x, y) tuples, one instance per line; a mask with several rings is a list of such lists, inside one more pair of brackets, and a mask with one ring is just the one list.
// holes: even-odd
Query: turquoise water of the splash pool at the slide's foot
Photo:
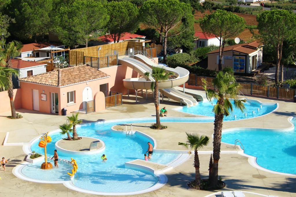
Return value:
[[(244, 103), (246, 107), (244, 112), (241, 112), (239, 109), (233, 107), (233, 112), (229, 116), (226, 116), (224, 120), (233, 121), (233, 120), (241, 120), (246, 118), (253, 118), (253, 117), (270, 113), (273, 110), (275, 110), (277, 107), (276, 103), (260, 103), (252, 99), (249, 99), (249, 101), (247, 100), (247, 102)], [(207, 100), (200, 101), (198, 102), (198, 105), (195, 105), (192, 107), (184, 106), (182, 108), (177, 108), (176, 110), (180, 112), (195, 114), (195, 115), (214, 116), (214, 113), (212, 110), (216, 102), (217, 100), (213, 100), (212, 102), (209, 102)], [(231, 103), (233, 104), (234, 101), (231, 100)], [(260, 108), (260, 105), (262, 105), (262, 108)], [(259, 108), (259, 111), (258, 111), (258, 108)], [(254, 111), (254, 114), (252, 111)], [(247, 116), (245, 116), (244, 113), (247, 113)], [(234, 118), (234, 115), (236, 115), (236, 118)]]

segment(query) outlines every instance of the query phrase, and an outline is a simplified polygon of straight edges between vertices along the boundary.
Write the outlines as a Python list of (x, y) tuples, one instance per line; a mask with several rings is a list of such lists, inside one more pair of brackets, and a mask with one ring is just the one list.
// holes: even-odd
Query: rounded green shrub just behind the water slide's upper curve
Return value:
[(177, 66), (186, 65), (192, 62), (195, 62), (196, 58), (192, 54), (188, 53), (176, 53), (172, 56), (167, 57), (167, 64), (172, 68), (176, 68)]

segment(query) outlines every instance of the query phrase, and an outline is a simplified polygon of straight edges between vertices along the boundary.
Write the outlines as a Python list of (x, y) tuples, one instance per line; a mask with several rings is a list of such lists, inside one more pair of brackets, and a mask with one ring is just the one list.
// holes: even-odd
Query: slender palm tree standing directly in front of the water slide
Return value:
[(145, 76), (147, 79), (152, 77), (155, 82), (151, 83), (151, 89), (154, 91), (154, 105), (156, 111), (156, 124), (155, 128), (160, 128), (160, 119), (159, 119), (159, 98), (158, 98), (158, 83), (168, 80), (169, 76), (172, 75), (172, 72), (166, 72), (164, 67), (153, 67), (152, 73), (146, 72)]

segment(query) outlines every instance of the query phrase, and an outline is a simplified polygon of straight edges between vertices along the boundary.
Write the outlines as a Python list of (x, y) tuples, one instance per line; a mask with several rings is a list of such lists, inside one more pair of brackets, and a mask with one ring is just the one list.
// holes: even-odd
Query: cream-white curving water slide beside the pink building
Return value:
[[(152, 66), (159, 66), (158, 64), (153, 63), (149, 58), (143, 55), (135, 55), (134, 58), (130, 57), (124, 57), (118, 60), (120, 64), (126, 65), (135, 71), (137, 71), (141, 76), (144, 78), (129, 78), (129, 79), (123, 79), (123, 85), (127, 89), (150, 89), (151, 83), (154, 81), (151, 77), (146, 77), (144, 75), (145, 72), (152, 73)], [(175, 69), (165, 67), (167, 71), (171, 71), (174, 74), (173, 79), (168, 79), (164, 82), (160, 82), (158, 84), (158, 87), (160, 89), (160, 92), (181, 103), (184, 103), (185, 105), (193, 106), (197, 104), (197, 101), (193, 98), (193, 96), (185, 94), (183, 92), (178, 91), (177, 89), (173, 88), (179, 85), (184, 84), (187, 82), (189, 78), (189, 71), (187, 69), (177, 67)]]

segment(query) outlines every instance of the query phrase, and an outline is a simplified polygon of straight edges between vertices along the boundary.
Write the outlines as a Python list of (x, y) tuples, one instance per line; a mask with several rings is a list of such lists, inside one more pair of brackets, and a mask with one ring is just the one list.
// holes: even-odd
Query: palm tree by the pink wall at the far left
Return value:
[[(0, 53), (0, 61), (1, 63), (4, 63), (2, 65), (5, 65), (8, 68), (12, 68), (11, 64), (11, 58), (12, 57), (18, 57), (22, 53), (22, 43), (18, 41), (12, 41), (5, 45), (5, 48)], [(9, 86), (8, 86), (8, 96), (10, 99), (10, 108), (11, 108), (11, 116), (13, 118), (17, 117), (17, 113), (15, 111), (15, 104), (13, 102), (13, 85), (12, 85), (12, 73), (9, 73)]]

